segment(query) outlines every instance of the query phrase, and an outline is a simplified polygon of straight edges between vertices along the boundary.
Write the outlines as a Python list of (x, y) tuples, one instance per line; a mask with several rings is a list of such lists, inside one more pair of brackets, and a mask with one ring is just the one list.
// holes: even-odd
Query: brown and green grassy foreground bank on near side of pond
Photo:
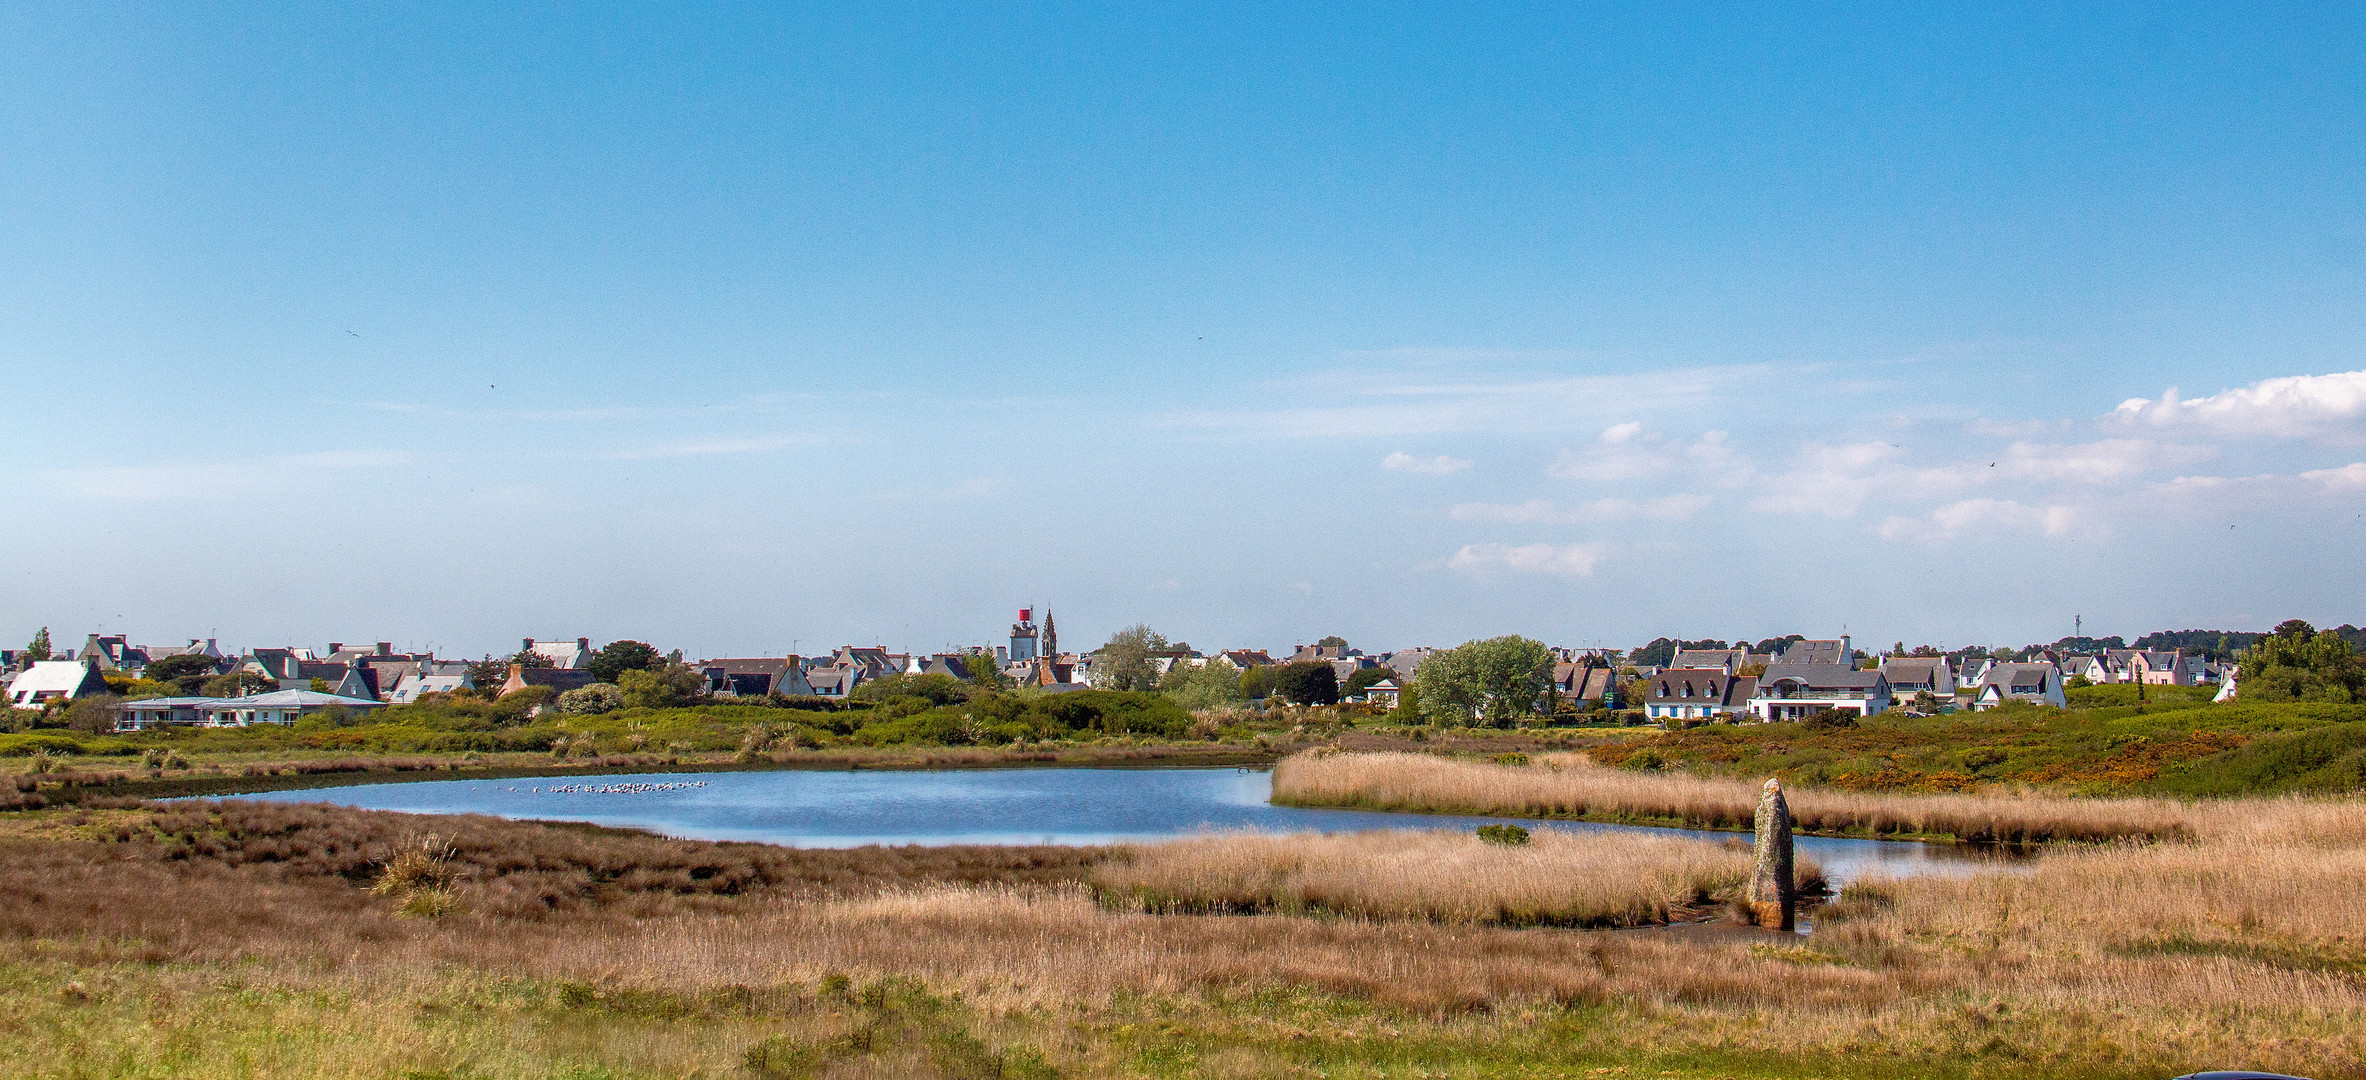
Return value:
[(2243, 810), (1857, 886), (1810, 938), (1159, 914), (1095, 900), (1110, 850), (50, 810), (0, 819), (0, 1073), (2366, 1078), (2366, 812)]

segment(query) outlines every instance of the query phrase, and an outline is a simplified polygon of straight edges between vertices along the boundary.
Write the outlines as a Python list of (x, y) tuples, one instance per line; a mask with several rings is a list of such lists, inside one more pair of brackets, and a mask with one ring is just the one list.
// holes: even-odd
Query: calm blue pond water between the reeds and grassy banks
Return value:
[[(556, 786), (696, 784), (672, 791), (554, 791)], [(1266, 770), (946, 770), (946, 772), (698, 772), (537, 779), (440, 779), (265, 791), (272, 803), (338, 803), (421, 815), (497, 815), (648, 829), (696, 841), (793, 848), (864, 843), (1114, 843), (1207, 829), (1363, 831), (1517, 822), (1531, 829), (1739, 836), (1514, 817), (1389, 815), (1273, 805)], [(1801, 836), (1834, 881), (1869, 869), (1950, 874), (1995, 864), (1954, 846)]]

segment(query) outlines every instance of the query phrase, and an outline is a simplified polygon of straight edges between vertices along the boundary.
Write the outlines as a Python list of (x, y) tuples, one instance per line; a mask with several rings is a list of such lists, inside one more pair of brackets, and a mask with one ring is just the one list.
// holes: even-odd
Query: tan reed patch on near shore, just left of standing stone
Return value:
[[(1332, 914), (1479, 926), (1644, 926), (1732, 900), (1741, 846), (1540, 829), (1528, 843), (1455, 831), (1228, 831), (1126, 848), (1093, 867), (1105, 902), (1164, 914)], [(1822, 888), (1812, 862), (1798, 867)]]

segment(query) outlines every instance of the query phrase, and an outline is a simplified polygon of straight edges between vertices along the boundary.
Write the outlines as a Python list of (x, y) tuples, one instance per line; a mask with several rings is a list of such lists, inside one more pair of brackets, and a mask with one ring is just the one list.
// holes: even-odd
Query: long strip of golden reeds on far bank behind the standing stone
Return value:
[[(1815, 834), (1952, 836), (1980, 843), (2191, 838), (2191, 808), (2167, 798), (1876, 796), (1793, 789), (1793, 827)], [(1748, 829), (1758, 784), (1692, 772), (1628, 772), (1576, 753), (1493, 765), (1429, 753), (1315, 753), (1273, 770), (1273, 801), (1595, 822)]]

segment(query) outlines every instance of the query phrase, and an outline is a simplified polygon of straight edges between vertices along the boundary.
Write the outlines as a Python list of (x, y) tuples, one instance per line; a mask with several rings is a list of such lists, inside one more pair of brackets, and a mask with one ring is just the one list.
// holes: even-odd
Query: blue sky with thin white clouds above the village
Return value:
[(2366, 618), (2357, 12), (774, 7), (0, 12), (0, 632)]

